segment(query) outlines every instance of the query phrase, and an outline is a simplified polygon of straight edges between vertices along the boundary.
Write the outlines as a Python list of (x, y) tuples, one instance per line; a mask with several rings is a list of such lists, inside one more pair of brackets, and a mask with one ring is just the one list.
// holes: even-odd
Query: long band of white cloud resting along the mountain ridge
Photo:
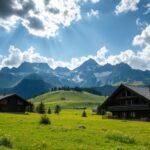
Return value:
[(116, 55), (108, 55), (108, 49), (104, 46), (97, 51), (96, 55), (88, 55), (79, 58), (72, 58), (68, 62), (57, 61), (53, 58), (41, 56), (36, 52), (34, 48), (29, 48), (26, 51), (21, 51), (14, 46), (10, 46), (9, 55), (1, 56), (1, 67), (18, 67), (22, 62), (45, 62), (48, 63), (52, 68), (58, 66), (68, 67), (74, 69), (80, 66), (83, 62), (92, 58), (96, 60), (100, 65), (110, 63), (112, 65), (124, 62), (129, 64), (135, 69), (150, 70), (150, 46), (146, 46), (142, 50), (134, 52), (133, 50), (125, 50)]

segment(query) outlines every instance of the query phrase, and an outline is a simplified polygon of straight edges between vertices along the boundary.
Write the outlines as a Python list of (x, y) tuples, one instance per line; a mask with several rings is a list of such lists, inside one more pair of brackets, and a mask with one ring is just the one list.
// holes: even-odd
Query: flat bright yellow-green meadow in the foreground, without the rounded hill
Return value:
[(60, 115), (48, 115), (51, 125), (40, 125), (39, 114), (0, 113), (0, 137), (8, 136), (17, 150), (150, 149), (148, 122), (101, 119), (90, 110), (83, 118), (81, 113), (82, 110), (62, 110)]

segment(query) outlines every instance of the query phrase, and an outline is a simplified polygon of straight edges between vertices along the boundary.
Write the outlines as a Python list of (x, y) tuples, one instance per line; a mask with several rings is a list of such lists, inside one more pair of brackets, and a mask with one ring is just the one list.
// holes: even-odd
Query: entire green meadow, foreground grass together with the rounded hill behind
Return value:
[[(0, 150), (149, 150), (149, 122), (103, 119), (92, 107), (105, 97), (86, 92), (59, 91), (34, 99), (52, 108), (51, 124), (40, 124), (37, 113), (0, 113)], [(54, 114), (54, 106), (62, 108)], [(87, 117), (82, 117), (88, 106)]]

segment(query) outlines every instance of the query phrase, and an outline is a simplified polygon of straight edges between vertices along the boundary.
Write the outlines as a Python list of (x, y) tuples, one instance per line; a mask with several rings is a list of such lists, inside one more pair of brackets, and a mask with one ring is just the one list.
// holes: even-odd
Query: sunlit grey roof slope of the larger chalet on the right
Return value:
[(137, 94), (145, 97), (146, 99), (150, 100), (150, 88), (149, 87), (131, 86), (131, 85), (124, 85), (124, 86), (136, 92)]

